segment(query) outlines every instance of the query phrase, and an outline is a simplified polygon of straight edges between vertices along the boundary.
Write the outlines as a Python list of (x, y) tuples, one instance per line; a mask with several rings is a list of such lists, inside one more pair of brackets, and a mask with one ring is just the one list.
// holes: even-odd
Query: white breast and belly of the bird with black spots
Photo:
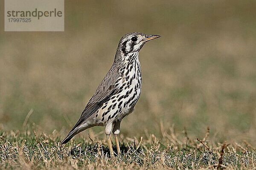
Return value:
[(105, 125), (107, 122), (121, 120), (134, 109), (141, 92), (141, 70), (138, 56), (120, 68), (121, 77), (116, 82), (117, 92), (94, 114), (94, 123)]

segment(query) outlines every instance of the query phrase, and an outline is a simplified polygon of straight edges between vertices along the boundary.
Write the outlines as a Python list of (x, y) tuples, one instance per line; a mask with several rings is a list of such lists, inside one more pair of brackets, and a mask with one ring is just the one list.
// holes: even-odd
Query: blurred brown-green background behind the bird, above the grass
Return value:
[[(159, 34), (140, 51), (143, 89), (123, 136), (256, 144), (256, 1), (65, 0), (64, 32), (4, 32), (0, 1), (0, 127), (64, 137), (107, 73), (120, 38)], [(34, 124), (34, 125), (33, 125)], [(103, 133), (93, 127), (81, 133)]]

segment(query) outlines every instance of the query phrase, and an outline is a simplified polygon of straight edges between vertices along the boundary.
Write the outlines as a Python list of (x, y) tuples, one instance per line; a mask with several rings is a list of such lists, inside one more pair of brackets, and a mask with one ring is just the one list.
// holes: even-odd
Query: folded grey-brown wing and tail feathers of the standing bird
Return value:
[(112, 68), (108, 71), (108, 74), (104, 77), (99, 87), (97, 88), (93, 97), (89, 100), (88, 104), (85, 106), (81, 117), (76, 122), (76, 125), (70, 130), (67, 137), (61, 142), (62, 144), (67, 143), (73, 136), (77, 134), (76, 127), (81, 125), (88, 117), (95, 113), (103, 103), (107, 102), (113, 94), (116, 93), (116, 80), (120, 77), (117, 69)]

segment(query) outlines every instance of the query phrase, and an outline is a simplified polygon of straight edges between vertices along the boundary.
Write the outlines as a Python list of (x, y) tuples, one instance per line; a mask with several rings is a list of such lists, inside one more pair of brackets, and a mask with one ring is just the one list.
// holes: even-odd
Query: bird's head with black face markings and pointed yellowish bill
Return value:
[(119, 41), (117, 50), (127, 56), (129, 53), (139, 52), (145, 42), (161, 37), (160, 35), (146, 35), (143, 33), (125, 34)]

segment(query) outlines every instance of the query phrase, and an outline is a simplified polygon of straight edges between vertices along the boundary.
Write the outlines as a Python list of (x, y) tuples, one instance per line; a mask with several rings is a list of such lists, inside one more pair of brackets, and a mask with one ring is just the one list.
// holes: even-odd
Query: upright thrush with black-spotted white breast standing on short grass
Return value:
[(120, 123), (134, 111), (141, 94), (139, 51), (145, 42), (159, 37), (161, 36), (156, 34), (133, 32), (120, 39), (110, 70), (61, 144), (66, 144), (73, 136), (90, 127), (105, 126), (111, 157), (114, 157), (111, 131), (116, 141), (117, 155), (121, 154), (117, 137)]

